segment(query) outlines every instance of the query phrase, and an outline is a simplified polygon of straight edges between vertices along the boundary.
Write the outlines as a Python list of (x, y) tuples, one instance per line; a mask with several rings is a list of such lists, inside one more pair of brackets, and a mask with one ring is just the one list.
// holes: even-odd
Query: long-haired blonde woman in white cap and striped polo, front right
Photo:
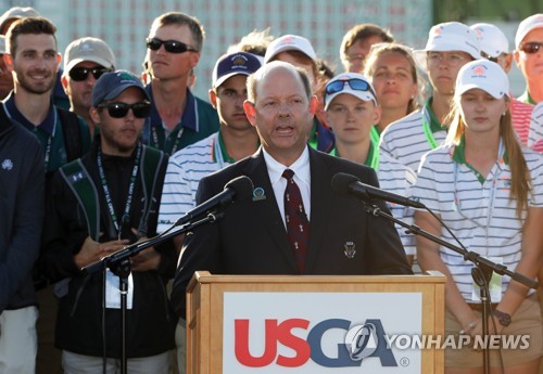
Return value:
[[(412, 195), (435, 212), (471, 252), (528, 278), (535, 278), (543, 230), (543, 159), (521, 147), (509, 113), (509, 83), (500, 65), (469, 62), (458, 72), (453, 117), (445, 143), (422, 157)], [(421, 229), (456, 244), (429, 212), (417, 211)], [(478, 287), (472, 263), (462, 255), (417, 237), (422, 270), (446, 275), (445, 332), (482, 334)], [(542, 352), (542, 324), (532, 289), (493, 274), (489, 331), (497, 335), (529, 335), (529, 348), (492, 350), (493, 372), (536, 373)], [(482, 352), (475, 347), (445, 350), (446, 373), (482, 373)]]

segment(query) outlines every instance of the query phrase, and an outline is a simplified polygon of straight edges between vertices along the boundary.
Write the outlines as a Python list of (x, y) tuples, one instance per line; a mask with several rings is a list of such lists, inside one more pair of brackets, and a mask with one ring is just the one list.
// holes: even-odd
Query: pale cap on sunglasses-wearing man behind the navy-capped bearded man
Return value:
[(102, 39), (86, 37), (72, 41), (64, 52), (64, 73), (68, 74), (75, 65), (84, 61), (115, 69), (113, 51)]

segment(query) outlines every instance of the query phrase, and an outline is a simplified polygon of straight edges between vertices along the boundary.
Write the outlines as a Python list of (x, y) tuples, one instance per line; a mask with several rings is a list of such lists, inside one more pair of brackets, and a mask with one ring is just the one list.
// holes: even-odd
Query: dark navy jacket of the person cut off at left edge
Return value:
[(43, 219), (43, 155), (0, 105), (0, 314), (36, 305), (30, 270)]

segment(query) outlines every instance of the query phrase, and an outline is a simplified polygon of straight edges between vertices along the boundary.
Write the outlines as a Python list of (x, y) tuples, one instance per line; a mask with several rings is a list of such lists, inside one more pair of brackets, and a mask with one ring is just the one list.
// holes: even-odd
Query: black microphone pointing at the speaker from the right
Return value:
[(376, 198), (404, 206), (411, 206), (414, 208), (426, 209), (426, 206), (422, 203), (404, 197), (402, 195), (396, 195), (394, 193), (383, 191), (372, 185), (362, 183), (358, 178), (345, 172), (338, 172), (336, 176), (333, 176), (332, 189), (338, 193), (352, 194), (364, 199)]

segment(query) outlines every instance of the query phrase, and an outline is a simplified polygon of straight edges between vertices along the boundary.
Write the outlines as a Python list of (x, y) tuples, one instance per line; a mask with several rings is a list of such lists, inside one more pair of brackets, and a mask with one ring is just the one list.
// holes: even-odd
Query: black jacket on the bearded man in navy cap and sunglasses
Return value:
[[(97, 144), (94, 150), (81, 158), (94, 182), (100, 201), (100, 231), (103, 233), (99, 242), (116, 238), (108, 210), (103, 188), (97, 166)], [(143, 194), (142, 172), (138, 173), (130, 209), (130, 224), (124, 230), (123, 237), (129, 236), (129, 228), (139, 228), (142, 211), (146, 210), (148, 197)], [(159, 180), (153, 191), (153, 207), (150, 209), (148, 237), (156, 235), (157, 208), (162, 194), (167, 157), (160, 165)], [(126, 202), (126, 171), (132, 170), (132, 157), (104, 156), (103, 166), (109, 181), (112, 199), (119, 202), (124, 208)], [(98, 271), (84, 275), (74, 262), (77, 254), (89, 235), (84, 210), (76, 196), (58, 172), (52, 181), (52, 193), (48, 198), (43, 268), (52, 282), (71, 279), (67, 294), (60, 298), (56, 319), (55, 345), (60, 349), (72, 352), (102, 356), (102, 297), (103, 272)], [(121, 209), (123, 209), (121, 208)], [(121, 214), (122, 215), (122, 214)], [(119, 215), (117, 214), (117, 217)], [(130, 237), (131, 242), (136, 237)], [(173, 276), (177, 255), (172, 241), (155, 246), (162, 260), (156, 271), (134, 272), (134, 306), (127, 311), (127, 357), (147, 357), (172, 349), (176, 319), (172, 312), (166, 294), (166, 282)], [(106, 354), (121, 358), (122, 322), (119, 309), (105, 310)]]

